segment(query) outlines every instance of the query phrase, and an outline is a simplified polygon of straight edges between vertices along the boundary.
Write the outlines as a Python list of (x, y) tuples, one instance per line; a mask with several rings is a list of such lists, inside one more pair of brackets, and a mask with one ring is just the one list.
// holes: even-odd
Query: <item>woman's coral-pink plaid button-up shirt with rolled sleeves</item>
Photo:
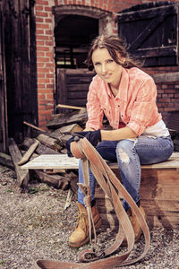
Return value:
[(139, 68), (123, 68), (119, 91), (115, 97), (108, 84), (96, 75), (90, 83), (88, 93), (86, 127), (102, 129), (105, 113), (114, 129), (128, 126), (141, 135), (148, 126), (157, 124), (161, 119), (156, 97), (155, 82)]

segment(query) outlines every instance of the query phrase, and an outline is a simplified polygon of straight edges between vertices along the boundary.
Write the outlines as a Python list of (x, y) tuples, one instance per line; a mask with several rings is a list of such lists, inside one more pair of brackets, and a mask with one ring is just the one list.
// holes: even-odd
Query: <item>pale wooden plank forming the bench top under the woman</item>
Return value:
[[(78, 169), (79, 160), (67, 154), (43, 154), (23, 165), (28, 169)], [(117, 169), (117, 163), (108, 163), (111, 169)], [(173, 153), (168, 161), (158, 164), (141, 165), (141, 169), (177, 169), (179, 168), (179, 152)]]

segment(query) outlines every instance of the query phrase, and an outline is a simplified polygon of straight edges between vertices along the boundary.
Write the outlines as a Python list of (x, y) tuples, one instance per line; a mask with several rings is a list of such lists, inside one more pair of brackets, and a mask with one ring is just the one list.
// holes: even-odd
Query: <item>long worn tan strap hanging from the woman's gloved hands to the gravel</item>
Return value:
[[(102, 159), (99, 153), (95, 150), (95, 148), (90, 144), (90, 142), (84, 137), (80, 139), (78, 142), (71, 143), (71, 151), (72, 155), (76, 158), (81, 158), (83, 176), (84, 176), (84, 184), (81, 187), (83, 193), (87, 195), (85, 197), (85, 205), (90, 208), (90, 183), (89, 183), (89, 166), (90, 169), (98, 181), (99, 186), (104, 190), (105, 194), (111, 200), (114, 208), (116, 217), (120, 223), (118, 233), (115, 237), (115, 242), (112, 246), (108, 247), (102, 253), (96, 253), (93, 249), (85, 250), (79, 256), (80, 262), (76, 263), (65, 263), (60, 261), (50, 261), (46, 262), (43, 260), (38, 261), (36, 265), (41, 263), (41, 267), (34, 268), (43, 268), (43, 269), (58, 269), (58, 268), (85, 268), (85, 269), (95, 269), (98, 266), (98, 269), (111, 269), (115, 268), (115, 266), (122, 265), (131, 265), (134, 264), (143, 258), (149, 250), (150, 243), (150, 235), (149, 228), (145, 221), (144, 216), (142, 215), (139, 207), (132, 199), (132, 196), (125, 190), (124, 186), (120, 183), (119, 179), (116, 178), (115, 173), (108, 167), (107, 162)], [(140, 256), (128, 259), (130, 254), (132, 253), (132, 249), (134, 247), (134, 232), (132, 229), (131, 221), (129, 220), (127, 213), (124, 211), (124, 206), (119, 198), (122, 195), (127, 203), (132, 208), (133, 213), (135, 213), (137, 220), (141, 225), (141, 230), (143, 231), (145, 238), (145, 246), (143, 252)], [(89, 212), (89, 220), (92, 221)], [(92, 223), (94, 229), (94, 223)], [(91, 228), (91, 224), (90, 224)], [(123, 254), (119, 254), (118, 256), (110, 256), (112, 255), (118, 247), (122, 244), (124, 240), (124, 236), (127, 239), (127, 250)], [(53, 264), (54, 263), (54, 264)], [(84, 264), (85, 263), (85, 264)], [(55, 266), (54, 266), (55, 265)], [(64, 266), (64, 267), (63, 267)]]

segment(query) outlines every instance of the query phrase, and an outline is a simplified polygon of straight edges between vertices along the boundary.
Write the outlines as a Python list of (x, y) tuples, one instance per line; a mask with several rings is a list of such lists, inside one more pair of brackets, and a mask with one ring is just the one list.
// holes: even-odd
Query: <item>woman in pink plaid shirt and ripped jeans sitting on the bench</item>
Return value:
[[(96, 146), (103, 159), (117, 161), (125, 189), (145, 216), (140, 204), (141, 164), (166, 161), (174, 150), (170, 134), (158, 113), (155, 82), (138, 68), (127, 54), (124, 41), (116, 36), (102, 35), (94, 39), (86, 64), (94, 67), (97, 75), (90, 83), (88, 121), (81, 134)], [(112, 130), (102, 130), (104, 114)], [(72, 154), (71, 142), (72, 139), (66, 145), (69, 156)], [(95, 181), (90, 171), (92, 215), (98, 228), (101, 220), (94, 200)], [(83, 182), (81, 164), (79, 182)], [(83, 198), (79, 188), (80, 219), (70, 237), (71, 247), (81, 247), (89, 241)], [(140, 225), (125, 200), (124, 209), (131, 216), (135, 238), (139, 239)]]

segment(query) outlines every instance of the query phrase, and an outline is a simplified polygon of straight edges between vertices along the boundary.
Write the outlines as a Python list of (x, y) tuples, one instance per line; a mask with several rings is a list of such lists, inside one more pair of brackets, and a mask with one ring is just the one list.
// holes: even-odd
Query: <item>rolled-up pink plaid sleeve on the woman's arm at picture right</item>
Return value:
[(136, 134), (141, 135), (161, 117), (156, 105), (157, 88), (153, 79), (141, 83), (133, 103), (130, 121), (127, 124)]

